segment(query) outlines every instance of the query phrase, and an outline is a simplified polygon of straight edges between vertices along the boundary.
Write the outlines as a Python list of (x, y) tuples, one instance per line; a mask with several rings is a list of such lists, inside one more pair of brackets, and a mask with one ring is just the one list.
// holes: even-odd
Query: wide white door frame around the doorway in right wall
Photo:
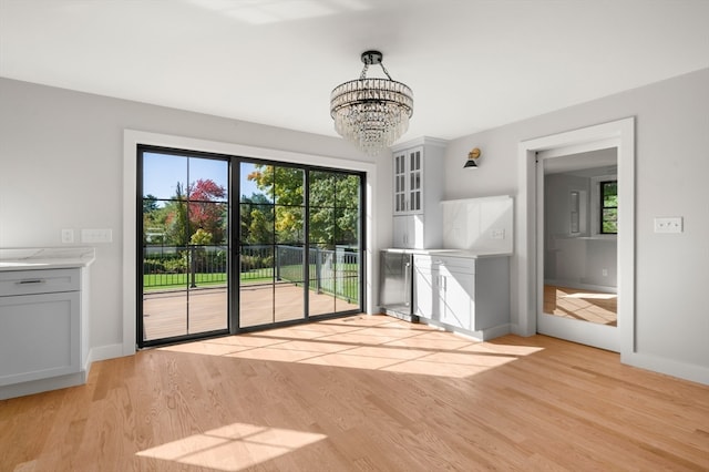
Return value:
[[(538, 171), (541, 158), (592, 153), (615, 148), (617, 153), (617, 201), (615, 208), (610, 202), (607, 214), (617, 216), (617, 317), (616, 322), (587, 322), (573, 317), (545, 315), (544, 280), (545, 252), (544, 233), (544, 175)], [(520, 205), (517, 217), (520, 238), (517, 248), (518, 319), (513, 331), (530, 336), (546, 334), (574, 342), (585, 343), (615, 352), (630, 353), (635, 350), (635, 250), (634, 250), (634, 196), (635, 196), (635, 120), (623, 119), (609, 123), (548, 135), (520, 143)], [(543, 168), (543, 167), (542, 167)], [(582, 194), (569, 195), (568, 233), (579, 230), (582, 223)], [(578, 198), (578, 212), (576, 202)], [(590, 198), (590, 196), (589, 196)], [(600, 197), (599, 197), (600, 198)], [(573, 211), (571, 209), (571, 204)], [(600, 205), (600, 202), (598, 201)], [(526, 209), (526, 212), (524, 211)], [(602, 208), (603, 211), (604, 208)], [(588, 211), (588, 209), (587, 209)], [(575, 213), (572, 215), (572, 213)], [(590, 219), (589, 219), (590, 220)], [(573, 225), (573, 228), (572, 228)], [(606, 267), (608, 276), (612, 267)], [(603, 276), (603, 267), (600, 268)], [(584, 288), (584, 287), (582, 287)], [(590, 288), (590, 287), (586, 287)], [(605, 291), (605, 290), (596, 290)], [(574, 299), (574, 294), (566, 297)], [(586, 297), (589, 298), (588, 296)]]

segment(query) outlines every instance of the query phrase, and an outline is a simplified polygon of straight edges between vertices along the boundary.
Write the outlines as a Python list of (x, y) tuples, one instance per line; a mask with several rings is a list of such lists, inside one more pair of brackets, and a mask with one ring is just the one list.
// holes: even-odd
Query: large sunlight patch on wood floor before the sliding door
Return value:
[[(339, 332), (332, 332), (332, 328)], [(276, 362), (465, 378), (542, 350), (481, 342), (389, 317), (356, 317), (302, 327), (167, 346), (161, 350)]]

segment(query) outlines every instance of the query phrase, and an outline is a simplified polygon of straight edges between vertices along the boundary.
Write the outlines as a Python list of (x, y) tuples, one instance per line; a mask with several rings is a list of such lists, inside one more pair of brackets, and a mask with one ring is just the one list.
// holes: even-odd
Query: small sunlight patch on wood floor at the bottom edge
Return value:
[(151, 448), (136, 455), (220, 471), (239, 471), (325, 438), (325, 434), (307, 431), (233, 423)]

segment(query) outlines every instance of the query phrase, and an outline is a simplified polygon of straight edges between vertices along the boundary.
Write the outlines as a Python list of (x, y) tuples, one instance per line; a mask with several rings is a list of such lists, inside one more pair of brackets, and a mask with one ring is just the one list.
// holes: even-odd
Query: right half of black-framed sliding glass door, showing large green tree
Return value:
[(239, 327), (361, 311), (362, 176), (240, 163)]

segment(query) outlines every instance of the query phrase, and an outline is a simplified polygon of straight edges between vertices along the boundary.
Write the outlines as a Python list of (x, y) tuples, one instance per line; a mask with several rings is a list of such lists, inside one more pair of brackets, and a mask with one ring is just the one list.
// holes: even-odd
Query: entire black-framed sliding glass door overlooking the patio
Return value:
[(361, 311), (362, 188), (358, 173), (138, 147), (138, 347)]

